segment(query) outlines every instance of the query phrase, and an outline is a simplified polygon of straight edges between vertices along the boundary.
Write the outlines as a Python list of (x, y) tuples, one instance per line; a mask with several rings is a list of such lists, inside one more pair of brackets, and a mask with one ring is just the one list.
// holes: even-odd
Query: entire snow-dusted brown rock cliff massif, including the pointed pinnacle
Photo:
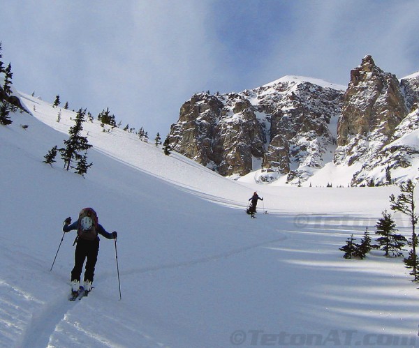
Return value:
[(347, 88), (287, 76), (240, 93), (197, 93), (170, 142), (223, 176), (262, 169), (260, 182), (286, 175), (297, 183), (333, 162), (356, 164), (353, 186), (378, 184), (418, 158), (418, 105), (419, 73), (399, 82), (365, 56)]

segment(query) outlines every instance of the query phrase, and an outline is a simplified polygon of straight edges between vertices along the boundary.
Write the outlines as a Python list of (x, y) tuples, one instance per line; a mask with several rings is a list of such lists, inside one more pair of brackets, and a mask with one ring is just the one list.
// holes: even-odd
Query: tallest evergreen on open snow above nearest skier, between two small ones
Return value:
[(64, 140), (65, 148), (59, 149), (61, 158), (64, 160), (64, 168), (68, 170), (73, 159), (80, 160), (82, 157), (80, 152), (87, 151), (91, 148), (87, 137), (83, 137), (80, 133), (83, 130), (82, 123), (85, 121), (86, 109), (80, 109), (75, 116), (75, 125), (68, 130), (69, 138)]

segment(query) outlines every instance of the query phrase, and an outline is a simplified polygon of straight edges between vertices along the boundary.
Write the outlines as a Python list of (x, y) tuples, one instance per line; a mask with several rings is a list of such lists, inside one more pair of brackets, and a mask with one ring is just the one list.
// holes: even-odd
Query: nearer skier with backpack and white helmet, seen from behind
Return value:
[(98, 259), (99, 237), (101, 234), (107, 239), (117, 239), (117, 232), (108, 233), (98, 223), (96, 212), (91, 208), (84, 208), (80, 211), (79, 218), (71, 225), (71, 218), (64, 220), (64, 232), (70, 232), (77, 229), (78, 236), (75, 239), (77, 243), (74, 253), (74, 268), (71, 271), (71, 293), (77, 296), (80, 289), (80, 276), (84, 260), (86, 269), (84, 271), (84, 294), (87, 295), (91, 290), (91, 284), (94, 278), (94, 268)]

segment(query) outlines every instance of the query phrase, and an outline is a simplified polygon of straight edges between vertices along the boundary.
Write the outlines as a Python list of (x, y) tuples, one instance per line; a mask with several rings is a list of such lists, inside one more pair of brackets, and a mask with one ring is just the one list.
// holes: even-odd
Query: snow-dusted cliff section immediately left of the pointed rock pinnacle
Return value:
[[(281, 98), (273, 103), (270, 143), (263, 159), (267, 174), (260, 179), (270, 181), (272, 171), (288, 174), (290, 180), (304, 179), (332, 156), (336, 139), (331, 121), (336, 123), (341, 112), (343, 92), (295, 80), (280, 81), (270, 88)], [(269, 101), (266, 95), (260, 105), (270, 105)]]

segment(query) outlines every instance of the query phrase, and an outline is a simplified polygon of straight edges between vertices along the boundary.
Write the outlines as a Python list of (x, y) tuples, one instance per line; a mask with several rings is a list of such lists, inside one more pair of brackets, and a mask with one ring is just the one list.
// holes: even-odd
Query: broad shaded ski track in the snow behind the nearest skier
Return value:
[(50, 342), (57, 325), (65, 318), (78, 301), (68, 301), (66, 295), (60, 294), (55, 301), (47, 302), (39, 313), (32, 315), (31, 322), (23, 333), (19, 348), (45, 348)]

